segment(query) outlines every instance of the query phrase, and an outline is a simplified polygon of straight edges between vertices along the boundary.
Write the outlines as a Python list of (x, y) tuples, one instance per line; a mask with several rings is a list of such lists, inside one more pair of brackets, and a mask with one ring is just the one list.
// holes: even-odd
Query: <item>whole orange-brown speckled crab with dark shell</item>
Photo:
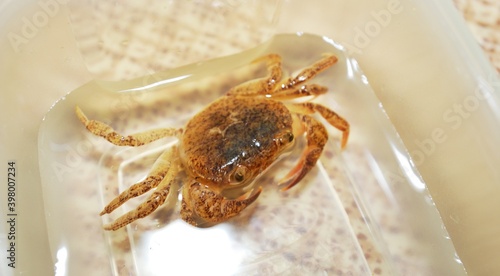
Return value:
[(341, 148), (348, 140), (349, 123), (333, 110), (311, 102), (311, 97), (293, 101), (326, 93), (326, 87), (307, 82), (337, 60), (335, 55), (325, 54), (296, 76), (282, 79), (281, 56), (262, 56), (254, 63), (266, 64), (265, 77), (231, 88), (191, 118), (184, 129), (122, 135), (103, 122), (89, 120), (76, 106), (76, 115), (88, 131), (117, 146), (137, 147), (168, 136), (178, 138), (158, 157), (143, 181), (120, 193), (100, 215), (153, 190), (147, 200), (103, 228), (117, 230), (150, 215), (165, 202), (177, 178), (182, 182), (180, 215), (184, 221), (198, 227), (226, 221), (257, 199), (262, 186), (255, 188), (254, 180), (302, 135), (307, 141), (305, 148), (297, 164), (278, 183), (282, 190), (296, 185), (315, 166), (328, 140), (325, 126), (312, 116), (314, 113), (342, 132)]

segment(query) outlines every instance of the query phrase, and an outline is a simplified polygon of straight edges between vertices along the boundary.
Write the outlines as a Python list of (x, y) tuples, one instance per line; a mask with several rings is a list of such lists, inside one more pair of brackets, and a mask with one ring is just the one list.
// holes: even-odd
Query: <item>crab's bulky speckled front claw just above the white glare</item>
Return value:
[(262, 187), (237, 199), (227, 199), (205, 185), (194, 182), (182, 190), (181, 218), (194, 226), (223, 222), (243, 211), (260, 195)]

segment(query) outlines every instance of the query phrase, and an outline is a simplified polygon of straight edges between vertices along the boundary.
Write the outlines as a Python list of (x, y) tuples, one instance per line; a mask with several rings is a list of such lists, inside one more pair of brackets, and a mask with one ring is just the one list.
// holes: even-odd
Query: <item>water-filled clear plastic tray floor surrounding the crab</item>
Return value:
[[(177, 189), (149, 217), (118, 231), (103, 206), (147, 174), (175, 139), (117, 147), (89, 134), (74, 114), (130, 134), (185, 122), (230, 87), (261, 76), (248, 64), (266, 53), (293, 74), (333, 52), (339, 62), (312, 82), (314, 99), (351, 124), (347, 147), (328, 126), (320, 161), (297, 186), (276, 185), (297, 151), (258, 181), (264, 190), (239, 216), (210, 228), (180, 220)], [(356, 61), (327, 37), (284, 34), (248, 51), (130, 81), (91, 81), (46, 115), (39, 160), (57, 275), (460, 275), (453, 245), (425, 184)]]

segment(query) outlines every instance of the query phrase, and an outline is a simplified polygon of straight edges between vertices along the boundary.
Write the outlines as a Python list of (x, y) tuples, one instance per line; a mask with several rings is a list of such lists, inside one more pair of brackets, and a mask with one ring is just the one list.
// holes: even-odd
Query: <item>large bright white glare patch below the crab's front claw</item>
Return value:
[(144, 244), (145, 262), (154, 275), (233, 275), (244, 251), (225, 225), (194, 228), (178, 220), (152, 233)]

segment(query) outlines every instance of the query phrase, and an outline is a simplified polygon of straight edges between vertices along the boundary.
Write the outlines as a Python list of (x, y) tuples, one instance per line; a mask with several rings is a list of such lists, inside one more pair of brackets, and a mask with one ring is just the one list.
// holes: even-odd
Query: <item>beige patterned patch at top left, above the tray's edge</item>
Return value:
[(89, 71), (118, 80), (249, 49), (272, 36), (278, 2), (75, 1), (70, 9)]

